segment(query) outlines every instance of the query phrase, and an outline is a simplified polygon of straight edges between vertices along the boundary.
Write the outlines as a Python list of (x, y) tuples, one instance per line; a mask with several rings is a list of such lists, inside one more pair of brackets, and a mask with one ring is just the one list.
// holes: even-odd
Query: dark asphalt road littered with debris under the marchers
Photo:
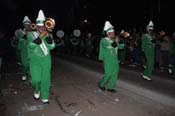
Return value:
[(102, 63), (79, 57), (53, 57), (50, 104), (33, 99), (19, 68), (8, 66), (0, 79), (0, 116), (175, 116), (175, 81), (121, 68), (117, 93), (102, 92), (97, 82)]

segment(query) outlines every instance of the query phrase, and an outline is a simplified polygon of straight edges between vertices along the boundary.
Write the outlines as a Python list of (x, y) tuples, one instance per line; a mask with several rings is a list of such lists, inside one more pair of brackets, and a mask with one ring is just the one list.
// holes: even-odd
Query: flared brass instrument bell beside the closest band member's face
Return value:
[(48, 31), (52, 31), (53, 28), (55, 27), (55, 20), (52, 18), (47, 18), (44, 22), (44, 26)]

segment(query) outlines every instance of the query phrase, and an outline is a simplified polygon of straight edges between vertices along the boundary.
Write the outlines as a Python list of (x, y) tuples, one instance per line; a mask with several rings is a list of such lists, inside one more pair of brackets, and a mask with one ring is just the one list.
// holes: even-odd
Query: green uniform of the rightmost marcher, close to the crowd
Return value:
[(149, 34), (142, 36), (142, 51), (146, 57), (146, 69), (143, 73), (144, 76), (151, 78), (154, 68), (154, 45), (152, 43), (152, 37)]

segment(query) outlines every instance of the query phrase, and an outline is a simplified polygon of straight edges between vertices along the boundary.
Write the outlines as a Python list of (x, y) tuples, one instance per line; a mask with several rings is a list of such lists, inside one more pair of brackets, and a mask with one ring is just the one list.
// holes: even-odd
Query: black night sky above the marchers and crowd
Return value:
[(145, 27), (150, 19), (159, 29), (173, 30), (174, 18), (172, 0), (1, 0), (0, 29), (14, 31), (22, 26), (22, 20), (28, 15), (35, 21), (39, 9), (46, 17), (56, 20), (56, 29), (71, 30), (88, 20), (88, 28), (101, 29), (105, 20), (118, 29)]

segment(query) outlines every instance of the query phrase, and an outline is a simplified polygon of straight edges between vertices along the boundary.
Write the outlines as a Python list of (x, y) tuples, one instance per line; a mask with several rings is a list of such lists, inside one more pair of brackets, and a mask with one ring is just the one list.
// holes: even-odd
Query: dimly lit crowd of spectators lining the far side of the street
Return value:
[[(136, 29), (133, 29), (128, 30), (127, 33), (129, 35), (124, 37), (122, 32), (117, 32), (117, 35), (125, 44), (125, 48), (119, 50), (118, 53), (120, 63), (131, 67), (144, 67), (146, 61), (141, 49), (141, 39), (144, 32), (137, 32)], [(152, 37), (155, 40), (155, 69), (168, 71), (171, 68), (174, 71), (175, 33), (168, 34), (164, 31), (157, 31), (153, 33)], [(101, 38), (101, 35), (90, 32), (81, 33), (79, 37), (73, 34), (65, 34), (62, 38), (55, 37), (56, 50), (59, 53), (84, 56), (96, 60), (98, 59)]]

